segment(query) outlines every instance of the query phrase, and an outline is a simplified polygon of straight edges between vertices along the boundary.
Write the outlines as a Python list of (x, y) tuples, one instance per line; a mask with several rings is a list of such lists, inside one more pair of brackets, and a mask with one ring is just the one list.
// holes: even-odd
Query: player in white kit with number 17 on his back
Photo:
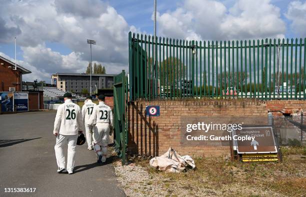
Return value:
[(92, 103), (91, 96), (87, 96), (85, 100), (85, 104), (82, 107), (82, 115), (83, 121), (85, 125), (85, 132), (86, 132), (86, 141), (88, 144), (88, 150), (92, 150), (92, 134), (93, 128), (95, 126), (95, 111), (96, 111), (96, 104)]

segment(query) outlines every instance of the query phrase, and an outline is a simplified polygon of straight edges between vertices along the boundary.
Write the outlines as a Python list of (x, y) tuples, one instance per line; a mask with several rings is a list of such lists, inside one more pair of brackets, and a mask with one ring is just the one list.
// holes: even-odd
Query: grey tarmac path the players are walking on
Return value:
[[(0, 196), (125, 196), (115, 179), (111, 160), (98, 165), (94, 152), (88, 151), (86, 144), (76, 148), (72, 175), (56, 173), (52, 133), (55, 113), (0, 115)], [(5, 188), (36, 190), (33, 193), (5, 193)]]

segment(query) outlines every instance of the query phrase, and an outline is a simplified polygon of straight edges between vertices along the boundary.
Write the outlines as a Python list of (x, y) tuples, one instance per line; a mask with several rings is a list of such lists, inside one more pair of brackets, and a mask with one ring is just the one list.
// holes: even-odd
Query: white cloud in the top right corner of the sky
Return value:
[(291, 27), (300, 37), (306, 37), (306, 1), (295, 0), (289, 3), (285, 16), (292, 20)]

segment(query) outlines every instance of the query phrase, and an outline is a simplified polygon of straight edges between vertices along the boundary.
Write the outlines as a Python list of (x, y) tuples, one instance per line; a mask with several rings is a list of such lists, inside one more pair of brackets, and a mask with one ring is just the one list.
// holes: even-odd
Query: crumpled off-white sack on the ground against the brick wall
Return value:
[(152, 158), (149, 163), (152, 168), (173, 173), (182, 172), (187, 166), (195, 168), (194, 161), (190, 156), (180, 156), (171, 147), (163, 155)]

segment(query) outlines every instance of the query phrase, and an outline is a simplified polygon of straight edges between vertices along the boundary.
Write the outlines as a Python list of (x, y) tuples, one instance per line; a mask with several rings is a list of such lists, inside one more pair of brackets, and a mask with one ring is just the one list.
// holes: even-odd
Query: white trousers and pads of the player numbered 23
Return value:
[[(103, 155), (103, 160), (106, 160), (107, 157), (109, 131), (110, 129), (108, 123), (96, 123), (92, 136), (94, 151), (98, 155)], [(102, 151), (100, 146), (102, 146)]]

